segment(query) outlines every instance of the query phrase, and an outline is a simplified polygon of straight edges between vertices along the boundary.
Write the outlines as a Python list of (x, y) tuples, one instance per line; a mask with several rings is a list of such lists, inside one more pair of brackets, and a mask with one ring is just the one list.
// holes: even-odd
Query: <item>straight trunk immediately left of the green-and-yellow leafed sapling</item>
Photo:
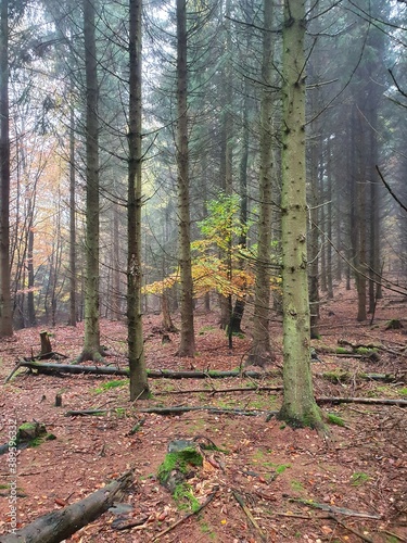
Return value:
[(177, 0), (177, 166), (181, 329), (178, 356), (194, 356), (193, 283), (191, 266), (190, 181), (188, 152), (187, 2)]

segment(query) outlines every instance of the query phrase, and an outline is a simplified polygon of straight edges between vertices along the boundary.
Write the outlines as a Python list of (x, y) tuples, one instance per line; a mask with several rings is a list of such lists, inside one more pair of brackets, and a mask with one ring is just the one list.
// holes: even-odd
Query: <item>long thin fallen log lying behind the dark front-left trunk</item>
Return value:
[[(10, 381), (13, 375), (20, 368), (28, 368), (36, 370), (38, 374), (94, 374), (94, 375), (116, 375), (129, 377), (128, 369), (120, 369), (111, 366), (81, 366), (80, 364), (53, 364), (53, 363), (39, 363), (33, 361), (20, 361), (13, 371), (9, 375), (4, 382)], [(169, 369), (148, 369), (148, 377), (152, 379), (205, 379), (211, 377), (212, 379), (224, 378), (224, 377), (251, 377), (252, 379), (262, 379), (264, 377), (274, 375), (272, 372), (258, 372), (258, 371), (240, 371), (239, 369), (230, 371), (216, 371), (209, 369), (207, 371), (171, 371)]]

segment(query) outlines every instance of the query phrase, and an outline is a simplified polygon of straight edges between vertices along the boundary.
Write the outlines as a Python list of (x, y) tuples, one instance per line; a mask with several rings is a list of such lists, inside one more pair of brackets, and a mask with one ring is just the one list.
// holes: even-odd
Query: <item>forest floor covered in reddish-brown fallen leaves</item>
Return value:
[[(316, 396), (407, 400), (407, 299), (385, 292), (372, 326), (356, 321), (356, 305), (353, 291), (339, 292), (334, 301), (322, 305), (321, 339), (313, 341), (320, 358), (311, 365)], [(250, 306), (243, 324), (247, 331), (249, 312)], [(198, 311), (196, 356), (186, 359), (175, 355), (178, 334), (170, 334), (171, 342), (163, 344), (160, 316), (147, 315), (148, 367), (240, 367), (250, 349), (250, 334), (234, 338), (233, 351), (229, 352), (217, 318), (214, 313)], [(395, 318), (404, 327), (386, 330), (390, 319)], [(126, 368), (125, 325), (103, 320), (101, 326), (102, 342), (110, 351), (106, 362)], [(150, 379), (152, 397), (136, 404), (128, 400), (125, 377), (47, 376), (20, 369), (4, 383), (18, 359), (39, 352), (41, 328), (21, 330), (2, 341), (0, 444), (8, 442), (10, 421), (14, 419), (17, 426), (43, 422), (56, 438), (18, 453), (18, 527), (84, 498), (135, 468), (133, 483), (124, 496), (128, 506), (103, 514), (67, 542), (407, 542), (406, 408), (380, 403), (323, 403), (326, 413), (344, 422), (329, 426), (329, 439), (310, 429), (293, 430), (276, 417), (267, 420), (267, 412), (277, 411), (282, 401), (281, 391), (262, 390), (282, 382), (281, 318), (276, 317), (271, 328), (277, 361), (265, 368), (263, 378)], [(69, 362), (80, 353), (82, 325), (59, 326), (49, 332), (53, 350), (67, 355)], [(327, 346), (334, 350), (343, 339), (380, 345), (378, 359), (327, 352)], [(365, 374), (392, 374), (396, 379), (385, 382), (366, 378)], [(254, 386), (259, 389), (236, 390)], [(56, 394), (62, 396), (61, 407), (55, 407)], [(209, 411), (141, 413), (158, 406), (257, 412), (256, 416)], [(68, 409), (90, 408), (106, 413), (65, 416)], [(193, 438), (200, 443), (211, 440), (220, 451), (204, 452), (203, 467), (192, 473), (189, 484), (201, 504), (216, 493), (198, 515), (185, 518), (186, 505), (174, 500), (156, 475), (168, 443)], [(3, 455), (0, 534), (10, 530), (9, 481)], [(120, 523), (138, 526), (119, 530)]]

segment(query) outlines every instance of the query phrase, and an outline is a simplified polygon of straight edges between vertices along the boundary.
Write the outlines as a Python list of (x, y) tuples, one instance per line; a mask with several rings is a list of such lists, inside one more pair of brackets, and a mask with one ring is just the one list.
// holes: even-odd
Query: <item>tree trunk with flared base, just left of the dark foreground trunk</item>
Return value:
[(86, 282), (85, 344), (79, 357), (100, 361), (99, 323), (99, 114), (98, 59), (96, 50), (96, 7), (84, 0), (86, 68)]

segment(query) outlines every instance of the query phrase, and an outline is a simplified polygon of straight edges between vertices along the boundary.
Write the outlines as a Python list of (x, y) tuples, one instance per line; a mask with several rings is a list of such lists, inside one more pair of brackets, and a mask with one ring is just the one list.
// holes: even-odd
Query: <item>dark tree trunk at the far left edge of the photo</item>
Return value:
[(13, 334), (10, 295), (9, 1), (0, 11), (0, 338)]

